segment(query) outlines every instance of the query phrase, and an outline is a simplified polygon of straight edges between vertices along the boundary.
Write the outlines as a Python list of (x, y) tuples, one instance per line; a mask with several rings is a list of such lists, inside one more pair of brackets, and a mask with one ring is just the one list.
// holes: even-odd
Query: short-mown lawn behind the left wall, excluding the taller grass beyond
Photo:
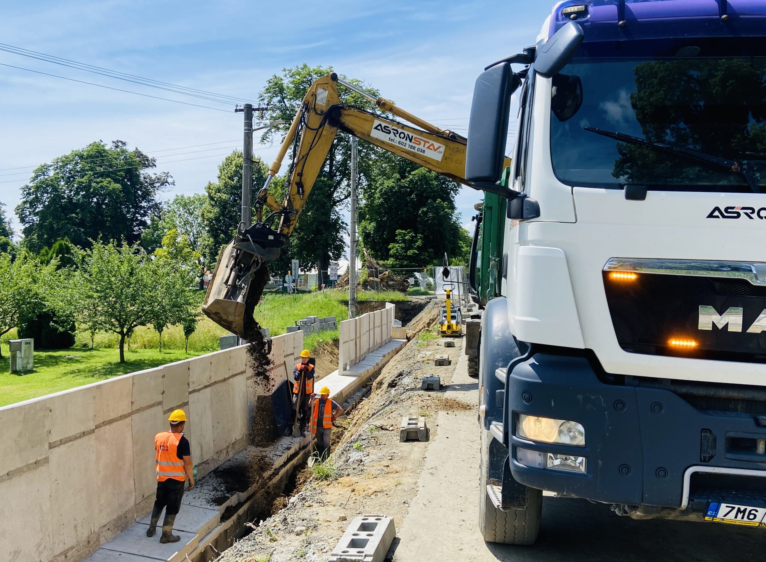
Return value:
[(3, 358), (0, 360), (0, 406), (103, 381), (119, 374), (181, 361), (202, 353), (190, 351), (187, 354), (183, 349), (163, 350), (162, 353), (156, 349), (131, 349), (125, 351), (126, 363), (120, 364), (117, 348), (35, 351), (34, 371), (11, 374), (8, 372), (10, 365), (7, 351), (3, 350)]

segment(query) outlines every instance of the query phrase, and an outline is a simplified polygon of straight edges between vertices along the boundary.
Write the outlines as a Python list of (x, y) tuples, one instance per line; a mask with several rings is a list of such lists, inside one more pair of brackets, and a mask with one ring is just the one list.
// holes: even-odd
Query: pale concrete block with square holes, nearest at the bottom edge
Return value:
[(383, 562), (394, 537), (394, 518), (385, 515), (355, 517), (332, 549), (329, 562)]

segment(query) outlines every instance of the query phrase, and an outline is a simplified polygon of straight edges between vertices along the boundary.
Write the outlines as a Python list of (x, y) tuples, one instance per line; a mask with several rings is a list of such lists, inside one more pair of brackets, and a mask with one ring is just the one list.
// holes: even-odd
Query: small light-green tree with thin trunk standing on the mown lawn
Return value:
[(80, 306), (97, 317), (102, 329), (119, 335), (119, 362), (125, 363), (126, 338), (151, 322), (156, 282), (152, 260), (138, 244), (96, 242), (81, 263)]

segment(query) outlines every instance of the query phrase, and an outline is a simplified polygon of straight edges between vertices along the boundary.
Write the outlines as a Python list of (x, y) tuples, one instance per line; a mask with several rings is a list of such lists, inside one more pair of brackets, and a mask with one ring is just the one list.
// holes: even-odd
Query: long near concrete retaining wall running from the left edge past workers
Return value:
[[(273, 383), (302, 348), (303, 332), (273, 338)], [(201, 477), (247, 445), (256, 386), (240, 346), (0, 408), (0, 560), (81, 560), (110, 541), (152, 508), (169, 412), (189, 417)]]

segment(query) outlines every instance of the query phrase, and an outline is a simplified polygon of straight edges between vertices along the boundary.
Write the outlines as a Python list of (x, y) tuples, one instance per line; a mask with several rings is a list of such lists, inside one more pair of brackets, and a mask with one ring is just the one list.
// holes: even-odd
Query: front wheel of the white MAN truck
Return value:
[(489, 441), (492, 435), (481, 428), (481, 461), (479, 486), (479, 528), (484, 540), (502, 544), (534, 544), (540, 531), (542, 490), (527, 488), (527, 505), (523, 509), (502, 511), (495, 507), (486, 491)]

